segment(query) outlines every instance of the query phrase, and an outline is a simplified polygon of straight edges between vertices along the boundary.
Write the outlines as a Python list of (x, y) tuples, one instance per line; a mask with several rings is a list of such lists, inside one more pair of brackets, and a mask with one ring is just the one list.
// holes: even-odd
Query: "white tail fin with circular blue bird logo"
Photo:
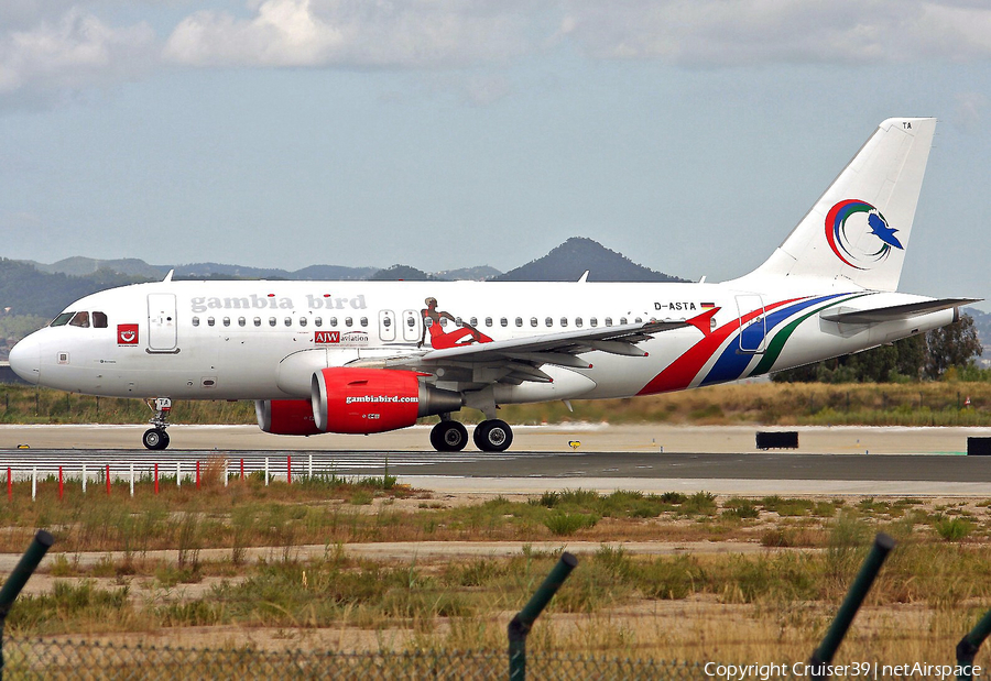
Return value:
[(751, 276), (847, 279), (863, 288), (895, 290), (935, 130), (934, 118), (881, 123)]

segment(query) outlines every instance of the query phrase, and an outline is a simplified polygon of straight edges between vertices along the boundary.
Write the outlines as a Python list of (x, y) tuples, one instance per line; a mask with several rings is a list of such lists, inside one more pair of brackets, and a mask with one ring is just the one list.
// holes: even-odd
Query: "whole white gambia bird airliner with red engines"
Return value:
[[(859, 352), (973, 299), (895, 293), (935, 119), (881, 123), (760, 267), (723, 283), (174, 282), (69, 305), (18, 343), (39, 385), (142, 397), (164, 449), (172, 399), (253, 399), (276, 435), (374, 433), (439, 415), (431, 442), (503, 451), (500, 405), (631, 397)], [(587, 274), (587, 273), (586, 273)]]

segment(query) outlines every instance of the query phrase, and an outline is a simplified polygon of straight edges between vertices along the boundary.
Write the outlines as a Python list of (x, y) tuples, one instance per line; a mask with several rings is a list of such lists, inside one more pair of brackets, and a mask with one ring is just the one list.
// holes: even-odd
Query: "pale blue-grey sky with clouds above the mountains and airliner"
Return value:
[(991, 298), (989, 98), (985, 0), (0, 0), (0, 256), (720, 281), (935, 116), (901, 289)]

